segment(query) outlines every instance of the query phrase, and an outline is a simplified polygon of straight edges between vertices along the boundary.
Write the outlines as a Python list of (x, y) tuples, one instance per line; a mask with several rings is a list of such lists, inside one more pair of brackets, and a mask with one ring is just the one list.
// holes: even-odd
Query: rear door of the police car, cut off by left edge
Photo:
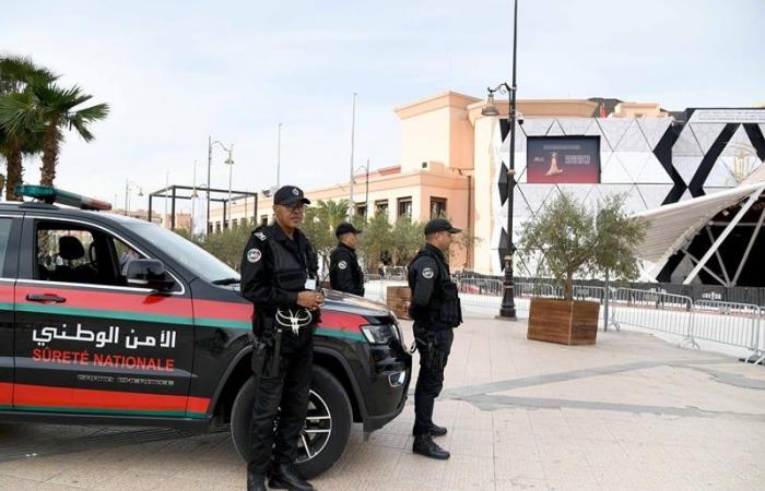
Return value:
[(21, 215), (0, 214), (0, 410), (13, 408), (13, 288)]

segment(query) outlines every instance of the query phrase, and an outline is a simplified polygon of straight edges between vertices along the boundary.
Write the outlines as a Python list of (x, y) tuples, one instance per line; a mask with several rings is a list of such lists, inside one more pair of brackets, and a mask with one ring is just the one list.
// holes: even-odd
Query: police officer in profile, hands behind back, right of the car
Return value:
[(433, 422), (433, 405), (444, 386), (444, 369), (455, 338), (452, 330), (462, 323), (457, 285), (451, 282), (448, 252), (451, 236), (459, 233), (444, 218), (425, 225), (427, 243), (409, 265), (412, 300), (409, 313), (414, 320), (414, 339), (420, 351), (420, 375), (414, 388), (414, 444), (412, 451), (426, 457), (447, 459), (449, 453), (433, 441), (447, 429)]

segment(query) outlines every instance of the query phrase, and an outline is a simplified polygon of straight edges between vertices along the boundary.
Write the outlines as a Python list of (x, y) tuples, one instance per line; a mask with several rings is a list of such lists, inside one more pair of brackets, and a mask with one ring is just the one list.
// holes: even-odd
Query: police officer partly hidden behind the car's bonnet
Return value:
[(356, 259), (361, 232), (352, 224), (338, 225), (334, 236), (339, 242), (329, 261), (329, 283), (333, 290), (364, 297), (364, 272)]

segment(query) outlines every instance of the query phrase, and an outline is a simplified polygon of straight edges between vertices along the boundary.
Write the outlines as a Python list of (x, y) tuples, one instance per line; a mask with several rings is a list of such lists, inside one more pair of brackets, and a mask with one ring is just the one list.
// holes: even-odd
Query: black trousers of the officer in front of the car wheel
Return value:
[[(308, 412), (308, 392), (314, 368), (313, 327), (299, 335), (284, 332), (281, 369), (276, 378), (254, 373), (255, 404), (250, 422), (251, 458), (248, 470), (266, 474), (271, 460), (292, 464), (297, 458), (297, 439)], [(274, 429), (274, 422), (279, 422)]]

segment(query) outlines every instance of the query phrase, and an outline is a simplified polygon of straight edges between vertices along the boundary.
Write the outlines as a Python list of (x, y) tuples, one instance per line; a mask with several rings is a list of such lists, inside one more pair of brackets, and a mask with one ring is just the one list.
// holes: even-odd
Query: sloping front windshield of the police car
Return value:
[(130, 228), (202, 279), (210, 283), (225, 280), (225, 284), (239, 280), (239, 274), (236, 271), (173, 231), (153, 224), (131, 224)]

